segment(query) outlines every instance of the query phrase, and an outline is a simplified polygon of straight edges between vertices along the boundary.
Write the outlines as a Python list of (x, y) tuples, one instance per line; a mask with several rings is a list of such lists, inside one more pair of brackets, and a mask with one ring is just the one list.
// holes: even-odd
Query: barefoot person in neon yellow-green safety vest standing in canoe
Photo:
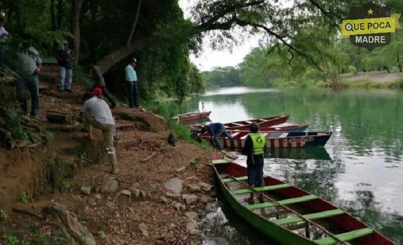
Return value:
[[(245, 140), (245, 146), (242, 148), (242, 154), (247, 156), (246, 165), (248, 172), (248, 185), (251, 188), (264, 187), (263, 180), (263, 164), (264, 164), (264, 150), (266, 147), (266, 139), (264, 135), (259, 132), (258, 124), (250, 125), (250, 133)], [(260, 203), (264, 202), (263, 196), (260, 194), (258, 197)], [(253, 193), (250, 197), (244, 199), (245, 202), (253, 204)]]

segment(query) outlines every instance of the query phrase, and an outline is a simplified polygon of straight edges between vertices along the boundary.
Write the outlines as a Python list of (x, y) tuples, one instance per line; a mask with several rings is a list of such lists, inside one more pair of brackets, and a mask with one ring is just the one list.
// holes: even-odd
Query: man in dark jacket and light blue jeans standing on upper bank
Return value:
[(67, 40), (63, 40), (63, 49), (57, 51), (56, 59), (60, 66), (59, 92), (72, 93), (74, 53)]

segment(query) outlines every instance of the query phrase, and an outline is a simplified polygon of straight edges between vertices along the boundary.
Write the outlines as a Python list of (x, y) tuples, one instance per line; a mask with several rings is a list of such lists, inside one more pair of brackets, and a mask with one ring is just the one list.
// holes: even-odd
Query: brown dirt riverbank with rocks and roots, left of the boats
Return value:
[[(84, 87), (74, 84), (73, 93), (59, 93), (57, 69), (43, 70), (41, 79), (46, 79), (41, 80), (38, 124), (46, 124), (47, 110), (61, 106), (76, 115)], [(100, 148), (101, 133), (94, 130), (94, 140), (87, 142), (86, 133), (77, 125), (58, 129), (47, 125), (54, 130), (49, 130), (53, 141), (46, 147), (52, 153), (46, 154), (56, 155), (54, 161), (58, 166), (71, 165), (75, 172), (74, 177), (63, 176), (57, 192), (44, 195), (35, 188), (41, 186), (38, 182), (51, 180), (38, 174), (44, 167), (39, 160), (37, 164), (22, 165), (39, 149), (22, 149), (25, 155), (4, 164), (8, 167), (2, 167), (0, 183), (5, 184), (3, 189), (10, 190), (4, 193), (13, 192), (13, 197), (18, 198), (9, 199), (0, 208), (3, 228), (0, 241), (5, 244), (22, 241), (63, 244), (69, 239), (76, 242), (84, 239), (87, 244), (200, 243), (203, 231), (198, 229), (197, 220), (203, 217), (209, 203), (216, 201), (211, 167), (206, 165), (214, 150), (189, 143), (176, 133), (175, 146), (169, 145), (167, 138), (172, 131), (166, 120), (147, 109), (118, 105), (112, 113), (116, 116), (119, 137), (115, 142), (118, 174), (109, 174), (110, 166)], [(6, 159), (5, 156), (0, 158)], [(17, 166), (19, 170), (15, 171)], [(23, 184), (18, 188), (11, 186), (17, 185), (18, 179)], [(62, 215), (61, 207), (65, 208)]]

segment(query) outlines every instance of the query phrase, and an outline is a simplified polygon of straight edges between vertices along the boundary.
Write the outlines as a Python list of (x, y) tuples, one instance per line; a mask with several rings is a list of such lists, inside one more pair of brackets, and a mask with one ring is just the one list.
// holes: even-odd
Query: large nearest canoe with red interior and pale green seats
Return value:
[[(213, 160), (213, 168), (238, 216), (282, 244), (395, 244), (346, 211), (282, 180), (264, 176), (265, 186), (251, 189), (246, 167), (219, 159)], [(251, 192), (262, 192), (264, 202), (257, 201), (257, 193), (254, 204), (244, 202)]]

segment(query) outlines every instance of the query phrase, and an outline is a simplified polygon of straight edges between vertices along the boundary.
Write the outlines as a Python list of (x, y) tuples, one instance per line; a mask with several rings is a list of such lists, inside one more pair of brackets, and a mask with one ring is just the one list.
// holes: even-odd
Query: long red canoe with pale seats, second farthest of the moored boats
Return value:
[[(234, 121), (233, 123), (224, 124), (224, 127), (227, 130), (249, 130), (249, 125), (251, 125), (252, 123), (257, 123), (260, 126), (260, 128), (268, 128), (279, 124), (284, 124), (289, 117), (290, 115), (282, 115), (282, 116), (263, 117), (243, 121)], [(203, 127), (204, 127), (203, 125), (192, 126), (189, 127), (189, 129), (201, 130), (201, 128)]]

